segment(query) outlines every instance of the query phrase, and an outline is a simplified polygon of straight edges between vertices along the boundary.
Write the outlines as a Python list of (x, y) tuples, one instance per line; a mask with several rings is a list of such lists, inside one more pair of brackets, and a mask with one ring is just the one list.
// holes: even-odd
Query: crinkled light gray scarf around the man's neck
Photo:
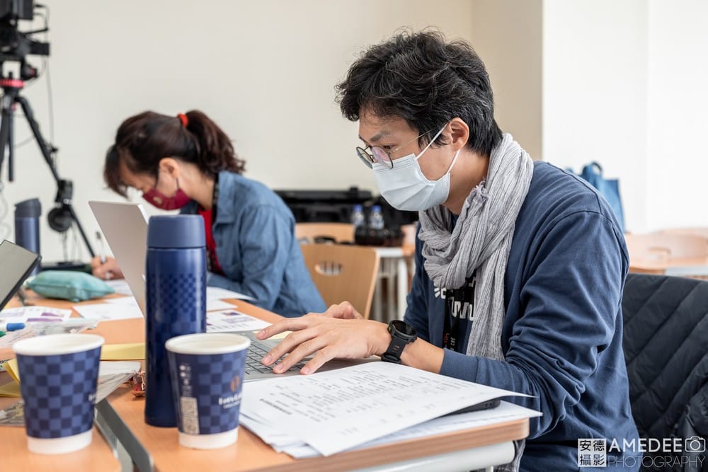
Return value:
[[(470, 192), (454, 228), (452, 213), (445, 207), (420, 212), (424, 267), (435, 287), (457, 289), (476, 271), (467, 355), (504, 359), (504, 273), (532, 174), (531, 157), (504, 134), (489, 156), (486, 178)], [(518, 470), (522, 453), (523, 442), (513, 463), (496, 470)]]

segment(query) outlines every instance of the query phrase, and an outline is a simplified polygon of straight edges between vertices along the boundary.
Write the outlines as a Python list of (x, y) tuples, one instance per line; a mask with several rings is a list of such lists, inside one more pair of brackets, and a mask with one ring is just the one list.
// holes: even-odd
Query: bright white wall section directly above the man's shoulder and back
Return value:
[[(673, 3), (672, 3), (673, 5)], [(544, 0), (543, 157), (619, 177), (625, 229), (646, 226), (647, 15), (643, 0)]]

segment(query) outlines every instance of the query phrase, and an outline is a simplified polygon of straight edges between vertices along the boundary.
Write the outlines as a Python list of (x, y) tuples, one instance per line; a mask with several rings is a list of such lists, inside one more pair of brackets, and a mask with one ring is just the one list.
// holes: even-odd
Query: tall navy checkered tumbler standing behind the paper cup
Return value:
[(147, 226), (145, 422), (177, 425), (165, 342), (207, 328), (207, 256), (199, 215), (151, 217)]

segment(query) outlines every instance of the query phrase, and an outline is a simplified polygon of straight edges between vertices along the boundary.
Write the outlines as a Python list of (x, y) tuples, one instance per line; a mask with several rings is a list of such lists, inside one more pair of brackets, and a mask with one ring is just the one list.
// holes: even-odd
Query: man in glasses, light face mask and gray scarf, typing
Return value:
[[(275, 323), (258, 336), (292, 333), (263, 363), (290, 352), (273, 368), (284, 372), (316, 352), (310, 374), (379, 355), (526, 393), (510, 401), (543, 415), (502, 470), (578, 470), (578, 439), (636, 439), (622, 352), (627, 249), (607, 202), (501, 132), (467, 43), (402, 33), (364, 52), (338, 92), (383, 197), (420, 212), (406, 315), (387, 326), (344, 302)], [(608, 464), (636, 470), (629, 454), (608, 452)]]

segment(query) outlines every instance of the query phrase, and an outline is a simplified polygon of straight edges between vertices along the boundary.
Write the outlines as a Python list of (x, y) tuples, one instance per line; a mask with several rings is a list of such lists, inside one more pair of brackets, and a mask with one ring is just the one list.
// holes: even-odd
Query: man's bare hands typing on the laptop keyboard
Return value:
[[(358, 315), (358, 317), (357, 317)], [(381, 355), (391, 343), (391, 335), (384, 323), (361, 318), (351, 306), (332, 305), (325, 313), (309, 313), (300, 318), (287, 318), (263, 328), (256, 337), (270, 338), (283, 331), (292, 331), (263, 357), (270, 366), (287, 354), (273, 372), (286, 372), (305, 357), (314, 357), (300, 369), (301, 374), (312, 374), (331, 359), (365, 359)]]

